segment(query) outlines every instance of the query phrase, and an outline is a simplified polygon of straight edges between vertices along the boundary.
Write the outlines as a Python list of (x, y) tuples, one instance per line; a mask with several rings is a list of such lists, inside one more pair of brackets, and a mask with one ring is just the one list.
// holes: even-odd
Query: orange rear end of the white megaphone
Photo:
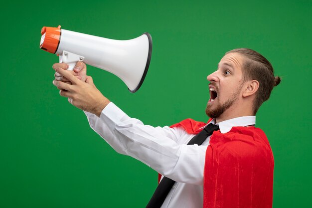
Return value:
[(56, 53), (61, 38), (61, 25), (58, 27), (42, 27), (40, 48), (50, 53)]

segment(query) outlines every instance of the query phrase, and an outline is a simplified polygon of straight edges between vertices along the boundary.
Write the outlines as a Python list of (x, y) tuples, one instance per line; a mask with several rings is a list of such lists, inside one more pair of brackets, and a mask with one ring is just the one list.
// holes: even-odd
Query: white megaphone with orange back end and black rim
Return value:
[(130, 40), (113, 40), (58, 27), (42, 27), (40, 48), (59, 56), (73, 70), (78, 61), (118, 76), (136, 92), (148, 72), (152, 55), (152, 37), (145, 32)]

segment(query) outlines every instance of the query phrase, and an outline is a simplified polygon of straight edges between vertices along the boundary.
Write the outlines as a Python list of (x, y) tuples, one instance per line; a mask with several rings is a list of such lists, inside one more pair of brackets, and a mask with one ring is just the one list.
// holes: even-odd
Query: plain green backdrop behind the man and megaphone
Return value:
[[(42, 26), (111, 39), (153, 37), (142, 88), (88, 66), (130, 116), (164, 126), (207, 121), (206, 77), (223, 54), (249, 47), (283, 78), (257, 114), (275, 156), (274, 208), (311, 206), (312, 1), (6, 1), (1, 3), (1, 208), (140, 208), (157, 174), (117, 154), (52, 85)], [(4, 23), (4, 24), (3, 24)]]

